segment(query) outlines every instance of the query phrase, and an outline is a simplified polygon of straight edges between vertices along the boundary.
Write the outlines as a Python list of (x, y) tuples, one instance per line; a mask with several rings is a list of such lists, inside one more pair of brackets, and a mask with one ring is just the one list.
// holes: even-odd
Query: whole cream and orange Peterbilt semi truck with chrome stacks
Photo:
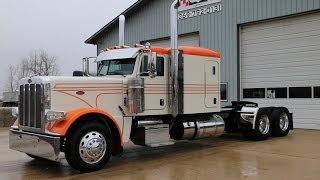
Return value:
[[(177, 6), (175, 0), (170, 48), (125, 46), (120, 16), (119, 46), (99, 54), (95, 76), (84, 58), (81, 77), (20, 80), (10, 148), (52, 161), (64, 153), (71, 167), (88, 172), (104, 167), (130, 140), (156, 147), (225, 132), (242, 132), (254, 140), (286, 136), (293, 122), (285, 107), (258, 107), (252, 102), (221, 107), (220, 54), (178, 47)], [(148, 139), (158, 130), (171, 140)]]

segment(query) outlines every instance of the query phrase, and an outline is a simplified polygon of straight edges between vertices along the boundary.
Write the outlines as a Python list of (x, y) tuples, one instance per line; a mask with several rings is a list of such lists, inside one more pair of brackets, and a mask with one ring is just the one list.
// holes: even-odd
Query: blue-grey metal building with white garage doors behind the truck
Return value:
[[(123, 12), (126, 44), (169, 46), (172, 2), (139, 0)], [(320, 129), (319, 10), (320, 0), (180, 0), (179, 45), (221, 52), (224, 105), (286, 106), (295, 127)], [(118, 19), (86, 43), (117, 45)]]

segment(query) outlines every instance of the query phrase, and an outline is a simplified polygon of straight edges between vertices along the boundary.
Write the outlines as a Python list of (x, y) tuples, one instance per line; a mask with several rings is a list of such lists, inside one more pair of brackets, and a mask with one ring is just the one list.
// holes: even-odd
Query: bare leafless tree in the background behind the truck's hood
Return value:
[(45, 50), (33, 50), (17, 65), (10, 65), (7, 78), (7, 91), (18, 88), (18, 81), (28, 76), (56, 76), (60, 74), (57, 57)]

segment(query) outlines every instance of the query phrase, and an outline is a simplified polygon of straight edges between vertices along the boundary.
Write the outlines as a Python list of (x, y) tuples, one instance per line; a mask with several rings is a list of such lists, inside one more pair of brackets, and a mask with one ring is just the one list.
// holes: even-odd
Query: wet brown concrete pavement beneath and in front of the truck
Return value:
[(147, 148), (126, 145), (122, 157), (100, 171), (80, 174), (65, 159), (33, 160), (9, 150), (0, 129), (1, 179), (320, 179), (320, 131), (295, 130), (287, 137), (247, 141), (225, 135)]

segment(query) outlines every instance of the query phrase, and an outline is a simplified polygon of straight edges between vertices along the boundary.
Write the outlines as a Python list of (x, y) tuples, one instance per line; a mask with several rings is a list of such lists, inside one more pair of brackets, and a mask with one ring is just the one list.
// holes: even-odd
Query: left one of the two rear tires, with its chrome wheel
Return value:
[(262, 141), (269, 138), (272, 133), (272, 121), (270, 118), (270, 114), (267, 109), (259, 109), (256, 122), (255, 129), (252, 130), (251, 139)]

